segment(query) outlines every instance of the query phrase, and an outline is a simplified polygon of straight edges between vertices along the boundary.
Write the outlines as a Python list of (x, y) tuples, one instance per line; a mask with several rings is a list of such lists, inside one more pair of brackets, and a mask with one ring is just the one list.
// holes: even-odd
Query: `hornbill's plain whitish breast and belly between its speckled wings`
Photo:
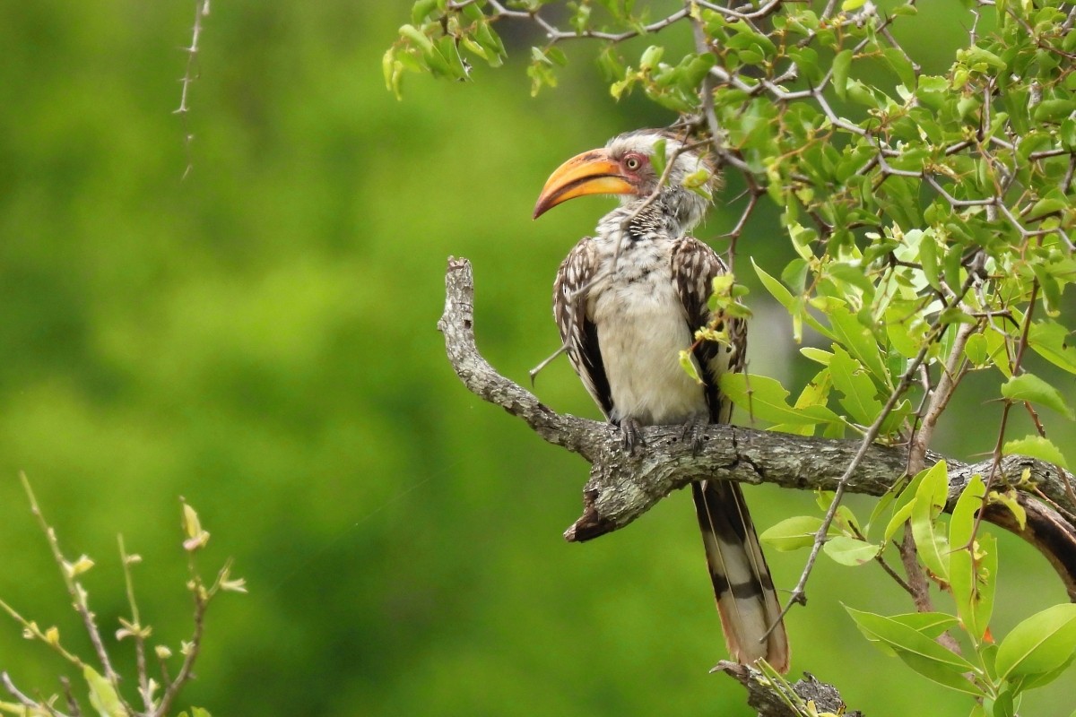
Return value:
[(680, 365), (692, 334), (674, 288), (670, 248), (625, 247), (615, 274), (590, 296), (614, 420), (680, 424), (707, 411), (703, 387)]

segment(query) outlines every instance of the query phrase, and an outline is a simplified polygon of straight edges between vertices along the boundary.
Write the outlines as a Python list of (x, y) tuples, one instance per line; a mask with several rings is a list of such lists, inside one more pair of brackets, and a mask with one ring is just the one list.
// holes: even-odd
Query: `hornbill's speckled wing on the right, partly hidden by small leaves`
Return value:
[[(672, 252), (672, 281), (676, 283), (680, 301), (688, 315), (688, 326), (694, 332), (706, 326), (712, 318), (708, 301), (713, 290), (713, 278), (728, 273), (728, 267), (718, 253), (693, 236), (685, 236)], [(726, 371), (744, 370), (747, 355), (747, 325), (741, 319), (719, 321), (717, 330), (727, 330), (730, 343), (702, 342), (695, 348), (695, 360), (706, 383), (706, 401), (710, 407), (710, 420), (727, 424), (732, 419), (733, 405), (721, 397), (718, 377)]]

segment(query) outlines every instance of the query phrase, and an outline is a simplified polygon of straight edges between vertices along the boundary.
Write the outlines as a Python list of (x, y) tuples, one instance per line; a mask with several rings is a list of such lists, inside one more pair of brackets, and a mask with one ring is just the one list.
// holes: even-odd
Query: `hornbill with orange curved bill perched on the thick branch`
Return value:
[[(708, 305), (713, 278), (728, 268), (691, 235), (711, 200), (684, 186), (707, 174), (716, 185), (710, 156), (678, 133), (637, 130), (561, 164), (535, 205), (537, 219), (578, 197), (620, 198), (561, 263), (553, 315), (572, 369), (629, 450), (643, 445), (643, 426), (682, 425), (697, 445), (698, 427), (732, 418), (718, 378), (744, 370), (747, 327)], [(696, 342), (708, 325), (726, 341)], [(702, 384), (680, 363), (682, 349)], [(700, 477), (691, 491), (728, 654), (788, 672), (780, 603), (739, 484)]]

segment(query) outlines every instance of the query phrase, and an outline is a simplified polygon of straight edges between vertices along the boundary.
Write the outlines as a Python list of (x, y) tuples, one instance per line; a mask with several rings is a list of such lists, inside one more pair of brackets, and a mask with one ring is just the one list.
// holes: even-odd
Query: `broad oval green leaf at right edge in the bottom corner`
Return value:
[(1013, 628), (997, 646), (1003, 679), (1052, 672), (1076, 651), (1076, 603), (1047, 607)]

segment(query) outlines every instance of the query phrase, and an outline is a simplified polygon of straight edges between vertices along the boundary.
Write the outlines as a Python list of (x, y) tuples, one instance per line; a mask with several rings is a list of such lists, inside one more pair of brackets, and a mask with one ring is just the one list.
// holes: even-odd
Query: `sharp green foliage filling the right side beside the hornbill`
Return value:
[[(537, 92), (555, 86), (552, 68), (564, 64), (551, 51), (589, 39), (613, 98), (637, 92), (679, 114), (726, 173), (744, 175), (750, 201), (735, 235), (747, 233), (758, 199), (779, 207), (794, 256), (778, 271), (754, 270), (788, 312), (794, 340), (813, 342), (802, 354), (818, 365), (798, 390), (738, 374), (722, 376), (721, 391), (771, 430), (908, 443), (917, 475), (862, 528), (838, 493), (824, 497), (825, 519), (788, 518), (763, 539), (781, 550), (824, 542), (834, 561), (860, 565), (884, 562), (907, 533), (918, 547), (911, 570), (952, 596), (953, 614), (850, 613), (868, 639), (925, 677), (981, 699), (983, 714), (1008, 715), (1022, 691), (1067, 663), (1071, 650), (1056, 645), (1070, 636), (1070, 607), (1029, 618), (991, 645), (996, 545), (976, 515), (993, 502), (1022, 524), (1023, 510), (1007, 489), (976, 478), (946, 525), (946, 464), (918, 469), (950, 399), (975, 372), (1003, 406), (995, 468), (1014, 453), (1072, 465), (1037, 413), (1049, 408), (1060, 431), (1071, 431), (1071, 391), (1032, 369), (1042, 359), (1076, 374), (1063, 310), (1076, 282), (1071, 11), (1058, 0), (964, 3), (948, 20), (965, 28), (959, 43), (929, 62), (920, 55), (929, 48), (912, 40), (932, 35), (919, 4), (835, 4), (689, 3), (655, 18), (656, 3), (581, 1), (567, 3), (563, 29), (539, 3), (442, 2), (426, 35), (405, 33), (391, 54), (425, 52), (447, 23), (462, 27), (455, 15), (478, 6), (483, 27), (540, 28), (546, 42), (532, 49), (528, 69)], [(690, 26), (692, 47), (659, 42), (678, 24)], [(439, 71), (431, 62), (419, 69)], [(716, 287), (719, 313), (737, 305), (727, 288)], [(708, 331), (696, 340), (721, 339)], [(689, 352), (681, 363), (694, 375)], [(1025, 435), (1008, 420), (1014, 406), (1031, 416)], [(936, 642), (957, 631), (967, 658)], [(995, 664), (1002, 656), (1005, 669)], [(1009, 669), (1017, 664), (1034, 668)]]

